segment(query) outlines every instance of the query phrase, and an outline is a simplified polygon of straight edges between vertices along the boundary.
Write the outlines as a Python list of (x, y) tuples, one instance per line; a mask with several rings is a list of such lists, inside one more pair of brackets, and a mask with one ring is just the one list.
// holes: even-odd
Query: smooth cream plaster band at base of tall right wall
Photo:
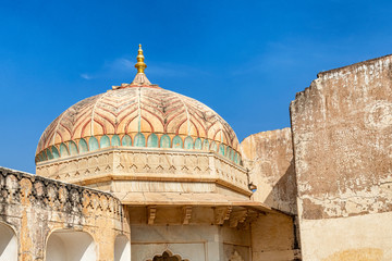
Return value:
[(390, 261), (392, 260), (391, 221), (391, 212), (328, 220), (302, 220), (303, 260), (336, 260), (330, 257), (347, 250), (359, 254), (363, 250), (375, 249), (382, 252), (379, 261)]

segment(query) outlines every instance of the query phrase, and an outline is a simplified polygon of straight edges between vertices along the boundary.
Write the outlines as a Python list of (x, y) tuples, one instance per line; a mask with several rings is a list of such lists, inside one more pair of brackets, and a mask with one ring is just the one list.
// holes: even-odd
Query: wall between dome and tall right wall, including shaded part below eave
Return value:
[(267, 214), (253, 223), (253, 260), (296, 260), (301, 253), (291, 129), (250, 135), (241, 149), (249, 182), (257, 186), (253, 200), (289, 214)]

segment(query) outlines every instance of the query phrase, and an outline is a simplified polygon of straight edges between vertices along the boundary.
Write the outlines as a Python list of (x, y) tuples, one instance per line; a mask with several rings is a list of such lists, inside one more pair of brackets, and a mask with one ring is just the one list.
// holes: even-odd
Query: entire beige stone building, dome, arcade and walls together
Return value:
[(291, 128), (241, 144), (207, 105), (132, 84), (0, 169), (0, 261), (392, 260), (392, 57), (323, 72)]

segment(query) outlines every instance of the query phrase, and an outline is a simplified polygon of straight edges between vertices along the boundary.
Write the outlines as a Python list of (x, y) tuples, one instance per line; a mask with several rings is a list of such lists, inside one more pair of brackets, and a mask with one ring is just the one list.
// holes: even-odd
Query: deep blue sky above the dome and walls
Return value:
[(0, 165), (35, 172), (46, 126), (132, 82), (206, 103), (242, 140), (290, 126), (320, 71), (392, 52), (392, 1), (0, 1)]

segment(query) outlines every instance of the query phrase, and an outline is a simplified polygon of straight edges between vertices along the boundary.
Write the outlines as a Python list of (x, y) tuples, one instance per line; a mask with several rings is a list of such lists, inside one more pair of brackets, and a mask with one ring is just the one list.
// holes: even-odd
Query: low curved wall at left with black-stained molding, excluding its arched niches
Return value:
[(16, 235), (19, 260), (45, 260), (53, 232), (85, 232), (96, 260), (113, 260), (118, 235), (130, 238), (130, 225), (110, 194), (0, 167), (0, 223)]

